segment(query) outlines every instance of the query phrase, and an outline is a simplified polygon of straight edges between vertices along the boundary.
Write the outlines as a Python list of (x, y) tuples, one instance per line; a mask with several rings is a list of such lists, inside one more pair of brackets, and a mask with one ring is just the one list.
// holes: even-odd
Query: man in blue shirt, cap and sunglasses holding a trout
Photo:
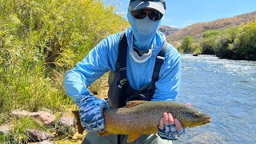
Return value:
[[(158, 31), (166, 3), (130, 0), (131, 27), (112, 34), (66, 73), (64, 86), (78, 104), (82, 126), (90, 132), (84, 143), (126, 143), (126, 135), (99, 137), (105, 130), (102, 110), (126, 106), (130, 100), (174, 101), (181, 77), (181, 56)], [(86, 87), (110, 71), (109, 101), (95, 98)], [(143, 135), (133, 143), (172, 143), (185, 133), (172, 114), (164, 113), (158, 134)], [(167, 140), (166, 140), (167, 139)]]

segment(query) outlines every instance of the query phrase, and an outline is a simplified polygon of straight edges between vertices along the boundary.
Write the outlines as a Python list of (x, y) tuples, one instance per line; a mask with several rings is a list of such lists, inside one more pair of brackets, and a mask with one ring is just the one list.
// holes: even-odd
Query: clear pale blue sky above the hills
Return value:
[[(198, 22), (210, 22), (256, 11), (256, 0), (165, 0), (162, 25), (183, 28)], [(115, 12), (126, 18), (130, 0), (105, 0), (116, 6)]]

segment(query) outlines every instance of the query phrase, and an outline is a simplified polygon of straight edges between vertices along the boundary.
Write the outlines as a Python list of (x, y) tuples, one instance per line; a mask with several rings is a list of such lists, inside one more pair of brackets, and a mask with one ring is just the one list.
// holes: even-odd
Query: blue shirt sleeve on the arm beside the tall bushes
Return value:
[(64, 89), (74, 102), (81, 94), (90, 94), (86, 88), (109, 70), (114, 70), (121, 34), (113, 34), (99, 42), (93, 50), (65, 74)]

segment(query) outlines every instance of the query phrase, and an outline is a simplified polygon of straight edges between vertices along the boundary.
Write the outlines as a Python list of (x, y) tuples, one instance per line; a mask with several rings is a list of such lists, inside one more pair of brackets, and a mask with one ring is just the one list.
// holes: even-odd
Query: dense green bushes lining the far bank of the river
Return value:
[(198, 42), (187, 35), (177, 48), (181, 53), (214, 54), (219, 58), (256, 61), (255, 37), (256, 22), (249, 22), (242, 27), (207, 30)]

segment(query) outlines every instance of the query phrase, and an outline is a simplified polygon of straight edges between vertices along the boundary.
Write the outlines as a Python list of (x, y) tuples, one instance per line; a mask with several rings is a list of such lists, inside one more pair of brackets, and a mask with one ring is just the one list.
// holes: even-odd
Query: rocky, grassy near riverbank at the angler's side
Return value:
[[(106, 98), (107, 79), (108, 74), (104, 74), (88, 90), (98, 98)], [(62, 110), (57, 112), (44, 107), (40, 107), (37, 112), (26, 109), (14, 110), (8, 114), (10, 121), (0, 125), (0, 143), (34, 143), (34, 141), (58, 144), (82, 143), (86, 131), (78, 134), (78, 126), (72, 113), (74, 110), (78, 110), (74, 103), (62, 106)]]

